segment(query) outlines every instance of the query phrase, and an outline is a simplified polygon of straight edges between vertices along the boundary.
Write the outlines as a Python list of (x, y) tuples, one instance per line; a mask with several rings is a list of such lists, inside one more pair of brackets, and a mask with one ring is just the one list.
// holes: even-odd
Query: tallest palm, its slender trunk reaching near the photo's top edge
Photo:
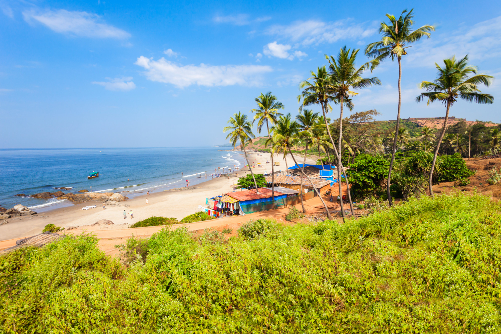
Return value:
[[(389, 24), (381, 22), (381, 27), (379, 28), (379, 33), (382, 34), (382, 38), (378, 42), (369, 44), (365, 48), (365, 55), (373, 58), (371, 61), (371, 71), (373, 71), (383, 60), (391, 58), (391, 60), (397, 59), (398, 62), (398, 111), (397, 111), (397, 124), (395, 125), (395, 137), (393, 138), (393, 148), (391, 150), (391, 161), (390, 169), (388, 172), (387, 188), (386, 193), (388, 194), (388, 202), (393, 205), (393, 200), (390, 194), (390, 180), (391, 180), (391, 170), (393, 169), (393, 162), (395, 160), (395, 149), (397, 147), (397, 136), (398, 129), (400, 128), (400, 105), (402, 102), (402, 91), (400, 88), (400, 82), (402, 79), (402, 65), (400, 61), (402, 56), (407, 55), (405, 49), (409, 48), (409, 44), (419, 41), (422, 37), (430, 37), (430, 32), (435, 31), (433, 26), (425, 25), (421, 28), (412, 31), (411, 27), (414, 24), (412, 18), (412, 10), (407, 13), (404, 10), (398, 20), (395, 19), (393, 15), (386, 14), (386, 17), (390, 20)], [(404, 16), (404, 14), (407, 15)]]

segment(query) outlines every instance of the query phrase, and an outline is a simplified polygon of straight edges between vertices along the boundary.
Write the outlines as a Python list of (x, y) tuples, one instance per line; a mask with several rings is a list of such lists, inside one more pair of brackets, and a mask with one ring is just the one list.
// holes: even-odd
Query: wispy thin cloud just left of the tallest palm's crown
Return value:
[(341, 39), (365, 38), (377, 31), (374, 25), (364, 28), (360, 24), (350, 24), (350, 21), (340, 20), (329, 23), (318, 20), (296, 21), (288, 26), (272, 26), (266, 33), (308, 46), (320, 43), (334, 43)]

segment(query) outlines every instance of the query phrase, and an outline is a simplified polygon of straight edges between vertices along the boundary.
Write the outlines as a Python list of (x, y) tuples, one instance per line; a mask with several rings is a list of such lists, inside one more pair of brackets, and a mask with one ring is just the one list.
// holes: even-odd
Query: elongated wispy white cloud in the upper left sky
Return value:
[(101, 22), (101, 17), (87, 12), (69, 12), (66, 10), (46, 10), (45, 12), (29, 10), (23, 12), (25, 21), (33, 24), (39, 22), (56, 33), (79, 37), (118, 38), (125, 39), (130, 34), (121, 29)]

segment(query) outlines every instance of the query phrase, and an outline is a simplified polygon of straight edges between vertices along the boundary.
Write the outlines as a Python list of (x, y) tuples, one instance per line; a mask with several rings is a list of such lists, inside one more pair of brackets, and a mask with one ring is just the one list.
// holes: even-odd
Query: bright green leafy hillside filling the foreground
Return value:
[[(0, 258), (6, 332), (498, 333), (501, 211), (412, 200), (344, 225), (163, 230), (126, 265), (67, 237)], [(133, 259), (131, 262), (130, 259)]]

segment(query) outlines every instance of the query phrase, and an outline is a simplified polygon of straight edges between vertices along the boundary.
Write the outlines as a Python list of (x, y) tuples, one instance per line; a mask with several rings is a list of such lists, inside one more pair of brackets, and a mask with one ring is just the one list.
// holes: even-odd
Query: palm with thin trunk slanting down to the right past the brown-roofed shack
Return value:
[[(289, 153), (292, 156), (292, 159), (294, 160), (294, 163), (296, 164), (296, 166), (299, 166), (296, 158), (294, 157), (294, 154), (292, 154), (291, 146), (296, 145), (298, 142), (300, 125), (296, 121), (291, 120), (291, 114), (287, 114), (285, 116), (280, 116), (280, 118), (277, 120), (277, 123), (275, 123), (275, 125), (272, 127), (272, 132), (273, 136), (272, 138), (268, 139), (268, 141), (273, 141), (273, 143), (279, 145), (279, 147), (286, 145)], [(317, 192), (320, 200), (322, 201), (322, 204), (324, 204), (325, 210), (327, 212), (327, 217), (332, 220), (332, 215), (329, 212), (329, 208), (325, 204), (324, 199), (318, 192), (317, 188), (315, 188), (315, 186), (313, 185), (313, 181), (310, 179), (310, 177), (307, 174), (304, 174), (303, 170), (301, 169), (301, 178), (305, 176), (308, 181), (310, 181), (310, 184), (312, 185), (314, 191)], [(301, 197), (303, 197), (303, 189), (301, 189)]]

